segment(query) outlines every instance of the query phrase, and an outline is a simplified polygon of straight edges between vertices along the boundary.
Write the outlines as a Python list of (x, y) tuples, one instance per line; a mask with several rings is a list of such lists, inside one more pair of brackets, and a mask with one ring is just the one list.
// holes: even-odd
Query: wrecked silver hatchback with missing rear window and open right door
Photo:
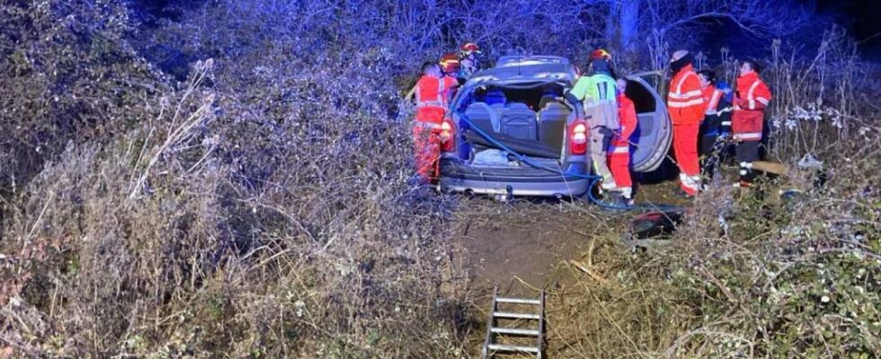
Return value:
[[(504, 198), (583, 196), (591, 183), (590, 133), (582, 104), (563, 96), (577, 76), (568, 59), (554, 56), (502, 57), (474, 74), (441, 125), (437, 188)], [(660, 74), (626, 79), (638, 118), (632, 170), (654, 171), (672, 139), (666, 106), (649, 83)]]

